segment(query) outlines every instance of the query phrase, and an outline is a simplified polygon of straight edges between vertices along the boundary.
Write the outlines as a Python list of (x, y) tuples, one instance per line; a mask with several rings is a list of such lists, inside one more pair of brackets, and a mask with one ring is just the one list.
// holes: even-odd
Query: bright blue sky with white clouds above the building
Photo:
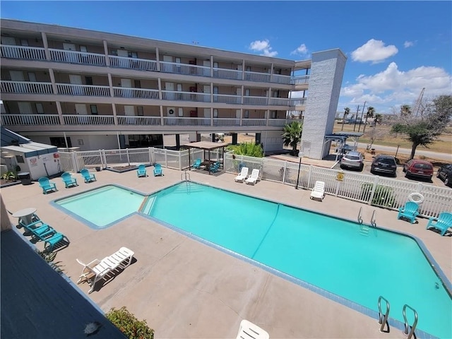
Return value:
[[(281, 59), (346, 56), (338, 112), (452, 95), (452, 1), (9, 1), (1, 18)], [(308, 93), (309, 95), (309, 93)]]

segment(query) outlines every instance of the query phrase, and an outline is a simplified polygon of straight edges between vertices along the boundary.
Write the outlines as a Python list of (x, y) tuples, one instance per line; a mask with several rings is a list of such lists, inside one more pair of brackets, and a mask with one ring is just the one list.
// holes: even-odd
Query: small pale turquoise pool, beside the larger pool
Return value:
[(69, 214), (83, 218), (95, 229), (105, 228), (137, 212), (145, 196), (118, 186), (104, 186), (55, 201)]

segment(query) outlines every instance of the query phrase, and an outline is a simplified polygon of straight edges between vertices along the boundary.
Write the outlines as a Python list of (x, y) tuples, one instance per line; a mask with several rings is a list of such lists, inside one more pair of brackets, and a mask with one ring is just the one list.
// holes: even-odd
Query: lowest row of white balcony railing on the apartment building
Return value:
[[(213, 118), (210, 117), (137, 117), (117, 116), (117, 124), (113, 115), (81, 115), (63, 114), (64, 125), (93, 125), (93, 126), (275, 126), (281, 127), (289, 123), (287, 119), (242, 119), (239, 118)], [(163, 121), (163, 125), (162, 125)], [(2, 126), (58, 126), (57, 114), (1, 114)]]

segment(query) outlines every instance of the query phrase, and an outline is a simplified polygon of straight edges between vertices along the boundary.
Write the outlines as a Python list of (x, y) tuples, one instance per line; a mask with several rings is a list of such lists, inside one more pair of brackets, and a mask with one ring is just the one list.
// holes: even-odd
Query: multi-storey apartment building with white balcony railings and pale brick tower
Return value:
[(302, 114), (304, 155), (321, 158), (345, 61), (339, 49), (293, 61), (2, 19), (1, 125), (80, 150), (255, 133), (270, 152)]

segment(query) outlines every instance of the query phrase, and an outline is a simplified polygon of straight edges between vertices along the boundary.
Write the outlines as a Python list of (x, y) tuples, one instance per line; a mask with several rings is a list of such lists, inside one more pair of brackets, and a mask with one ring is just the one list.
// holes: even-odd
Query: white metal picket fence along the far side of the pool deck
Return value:
[[(167, 168), (184, 170), (188, 169), (196, 158), (203, 160), (203, 150), (178, 151), (152, 147), (60, 152), (59, 154), (63, 172), (80, 172), (83, 168), (95, 169), (95, 167), (153, 165), (157, 162)], [(210, 159), (219, 160), (220, 153), (210, 152)], [(249, 167), (249, 172), (252, 169), (259, 169), (262, 180), (290, 186), (297, 185), (302, 189), (312, 189), (315, 182), (321, 180), (325, 182), (326, 194), (391, 210), (398, 210), (404, 206), (410, 194), (420, 193), (424, 196), (424, 202), (420, 205), (420, 215), (423, 217), (437, 217), (441, 212), (452, 212), (452, 189), (447, 187), (225, 153), (223, 169), (225, 172), (238, 173), (242, 167)], [(342, 180), (338, 180), (339, 172), (343, 173)]]

